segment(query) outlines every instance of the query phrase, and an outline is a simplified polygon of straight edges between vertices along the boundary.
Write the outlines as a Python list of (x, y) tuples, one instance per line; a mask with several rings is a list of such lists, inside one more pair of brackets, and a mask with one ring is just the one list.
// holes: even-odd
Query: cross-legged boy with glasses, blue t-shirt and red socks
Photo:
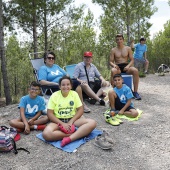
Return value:
[(20, 99), (18, 108), (20, 118), (10, 120), (10, 126), (16, 128), (18, 132), (29, 134), (31, 129), (43, 130), (48, 122), (47, 116), (41, 116), (45, 109), (44, 99), (39, 96), (40, 84), (32, 82), (28, 89), (28, 95)]

